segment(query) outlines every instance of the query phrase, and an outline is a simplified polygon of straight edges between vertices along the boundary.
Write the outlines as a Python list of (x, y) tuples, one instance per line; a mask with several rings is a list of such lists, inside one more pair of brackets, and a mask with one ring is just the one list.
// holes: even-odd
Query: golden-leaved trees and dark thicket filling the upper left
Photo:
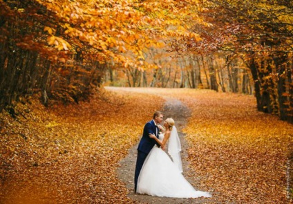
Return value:
[(79, 102), (108, 68), (152, 66), (143, 52), (165, 37), (198, 39), (185, 22), (198, 19), (191, 3), (1, 0), (0, 110), (36, 93)]

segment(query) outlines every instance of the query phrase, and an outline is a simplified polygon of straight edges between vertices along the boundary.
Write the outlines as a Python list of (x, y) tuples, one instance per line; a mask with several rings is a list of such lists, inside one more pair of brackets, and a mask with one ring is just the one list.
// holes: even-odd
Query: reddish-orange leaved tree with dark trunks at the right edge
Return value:
[[(258, 110), (292, 122), (292, 1), (211, 0), (203, 7), (202, 18), (213, 26), (193, 26), (202, 41), (185, 39), (185, 50), (221, 50), (242, 60), (252, 73)], [(229, 84), (237, 91), (229, 66)]]

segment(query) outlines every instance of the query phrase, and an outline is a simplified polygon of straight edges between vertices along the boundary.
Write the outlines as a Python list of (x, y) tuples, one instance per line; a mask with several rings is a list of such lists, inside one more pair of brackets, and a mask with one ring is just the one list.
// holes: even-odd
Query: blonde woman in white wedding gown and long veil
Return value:
[(169, 140), (168, 153), (155, 145), (144, 161), (138, 177), (138, 189), (140, 194), (173, 198), (198, 198), (201, 196), (211, 197), (208, 192), (196, 191), (192, 185), (182, 176), (182, 164), (180, 159), (181, 145), (175, 122), (172, 118), (164, 121), (166, 129), (164, 134), (149, 136), (155, 139), (164, 149)]

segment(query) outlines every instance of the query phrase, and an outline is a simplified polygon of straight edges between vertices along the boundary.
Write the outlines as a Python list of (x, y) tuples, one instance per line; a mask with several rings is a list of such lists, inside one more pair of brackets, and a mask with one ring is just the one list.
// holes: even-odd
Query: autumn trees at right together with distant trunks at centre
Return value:
[[(189, 37), (146, 55), (158, 68), (109, 71), (107, 84), (212, 89), (256, 96), (258, 111), (292, 122), (292, 1), (201, 1)], [(167, 52), (166, 52), (167, 51)]]

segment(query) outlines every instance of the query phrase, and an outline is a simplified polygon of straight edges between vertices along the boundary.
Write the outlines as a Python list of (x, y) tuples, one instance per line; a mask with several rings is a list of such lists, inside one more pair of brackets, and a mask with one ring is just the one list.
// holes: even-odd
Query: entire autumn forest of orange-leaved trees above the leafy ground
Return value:
[(0, 3), (0, 110), (103, 84), (189, 87), (253, 94), (292, 122), (292, 1)]

